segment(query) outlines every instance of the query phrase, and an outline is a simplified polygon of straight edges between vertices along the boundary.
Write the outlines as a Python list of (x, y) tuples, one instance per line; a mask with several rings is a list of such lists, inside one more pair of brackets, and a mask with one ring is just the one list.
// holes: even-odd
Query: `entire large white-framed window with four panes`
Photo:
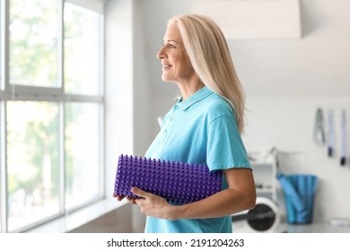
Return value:
[(103, 196), (103, 2), (0, 3), (0, 232), (18, 232)]

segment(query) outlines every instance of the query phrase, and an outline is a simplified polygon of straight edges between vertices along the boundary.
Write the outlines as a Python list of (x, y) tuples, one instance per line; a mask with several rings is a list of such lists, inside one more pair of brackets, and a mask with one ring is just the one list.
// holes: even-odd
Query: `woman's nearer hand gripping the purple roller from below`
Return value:
[(131, 188), (131, 192), (142, 197), (141, 199), (135, 199), (134, 203), (140, 206), (141, 212), (145, 215), (166, 220), (177, 220), (176, 206), (171, 205), (161, 196), (144, 192), (144, 190), (137, 187)]

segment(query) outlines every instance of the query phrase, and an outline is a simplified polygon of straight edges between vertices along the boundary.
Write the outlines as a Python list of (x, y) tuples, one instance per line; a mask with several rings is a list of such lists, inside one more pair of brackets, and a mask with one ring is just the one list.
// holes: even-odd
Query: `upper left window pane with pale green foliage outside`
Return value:
[(59, 87), (59, 0), (10, 0), (10, 82)]

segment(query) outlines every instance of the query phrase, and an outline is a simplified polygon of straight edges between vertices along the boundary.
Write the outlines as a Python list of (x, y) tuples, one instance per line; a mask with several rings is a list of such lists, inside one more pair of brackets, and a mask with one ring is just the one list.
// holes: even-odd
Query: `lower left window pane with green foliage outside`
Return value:
[(58, 105), (7, 102), (8, 228), (59, 212)]

